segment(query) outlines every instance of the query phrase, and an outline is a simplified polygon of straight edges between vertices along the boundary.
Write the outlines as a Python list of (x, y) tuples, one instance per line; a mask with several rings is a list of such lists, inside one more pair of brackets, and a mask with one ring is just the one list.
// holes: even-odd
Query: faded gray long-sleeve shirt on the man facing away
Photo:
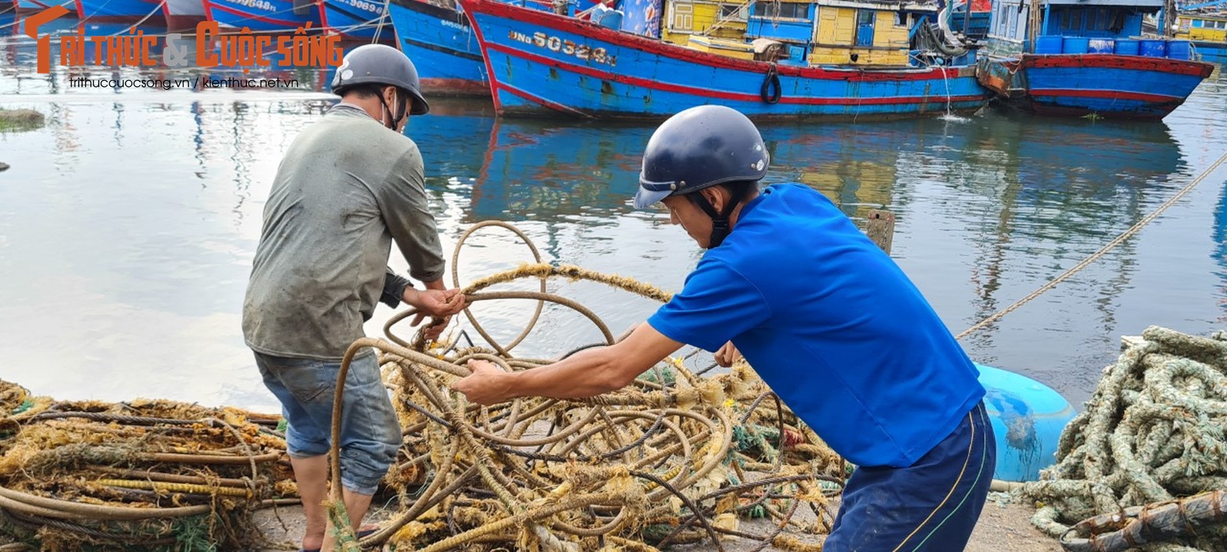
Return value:
[(294, 139), (277, 167), (243, 303), (247, 345), (339, 361), (363, 336), (362, 323), (394, 277), (387, 269), (393, 239), (412, 277), (443, 276), (417, 145), (337, 104)]

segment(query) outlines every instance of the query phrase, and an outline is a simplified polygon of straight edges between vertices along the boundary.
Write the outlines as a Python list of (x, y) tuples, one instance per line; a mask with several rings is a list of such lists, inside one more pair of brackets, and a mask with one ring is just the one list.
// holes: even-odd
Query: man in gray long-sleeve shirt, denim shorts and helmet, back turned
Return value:
[[(306, 551), (333, 550), (325, 535), (333, 395), (341, 358), (375, 302), (401, 301), (443, 318), (465, 307), (445, 289), (443, 250), (427, 205), (422, 156), (401, 134), (410, 114), (429, 110), (417, 70), (395, 48), (367, 44), (346, 54), (333, 80), (341, 96), (290, 145), (277, 167), (243, 304), (243, 336), (265, 386), (288, 422), (287, 451), (298, 481)], [(395, 240), (415, 289), (387, 267)], [(400, 424), (372, 350), (360, 352), (345, 380), (341, 483), (358, 529), (371, 497), (401, 444)]]

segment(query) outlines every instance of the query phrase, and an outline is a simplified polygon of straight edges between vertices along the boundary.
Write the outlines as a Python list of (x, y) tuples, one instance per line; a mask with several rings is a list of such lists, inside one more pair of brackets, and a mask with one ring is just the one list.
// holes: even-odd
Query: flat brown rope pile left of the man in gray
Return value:
[(13, 550), (239, 550), (259, 536), (245, 514), (294, 492), (277, 464), (285, 440), (266, 427), (276, 417), (56, 402), (6, 381), (0, 412), (0, 527)]

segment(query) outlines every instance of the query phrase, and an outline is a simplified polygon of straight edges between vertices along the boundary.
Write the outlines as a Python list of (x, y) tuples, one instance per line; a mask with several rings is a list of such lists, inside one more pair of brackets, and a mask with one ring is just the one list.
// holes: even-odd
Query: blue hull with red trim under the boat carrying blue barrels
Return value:
[(1044, 115), (1162, 119), (1210, 76), (1201, 61), (1115, 54), (982, 59), (980, 82), (1012, 107)]

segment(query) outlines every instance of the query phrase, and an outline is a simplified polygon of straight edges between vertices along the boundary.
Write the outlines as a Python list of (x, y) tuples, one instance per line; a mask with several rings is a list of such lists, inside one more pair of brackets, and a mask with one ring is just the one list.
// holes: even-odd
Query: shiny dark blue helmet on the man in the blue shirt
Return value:
[(761, 180), (771, 157), (758, 129), (724, 105), (699, 105), (670, 117), (643, 151), (634, 207), (726, 182)]

